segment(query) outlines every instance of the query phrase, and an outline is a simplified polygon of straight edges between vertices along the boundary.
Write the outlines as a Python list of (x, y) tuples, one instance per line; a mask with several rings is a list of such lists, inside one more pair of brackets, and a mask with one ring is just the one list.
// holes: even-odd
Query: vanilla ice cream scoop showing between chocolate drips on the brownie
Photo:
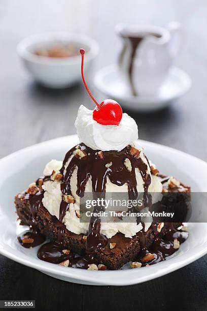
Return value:
[[(151, 183), (149, 185), (149, 192), (156, 192), (160, 193), (162, 192), (162, 184), (157, 176), (154, 176), (150, 172), (150, 167), (148, 164), (148, 161), (143, 153), (143, 150), (140, 149), (140, 157), (142, 161), (147, 166), (147, 173), (151, 176)], [(75, 157), (73, 154), (68, 161), (66, 162), (64, 166), (64, 175), (66, 174), (67, 167), (70, 165), (71, 160)], [(81, 160), (80, 160), (81, 161)], [(61, 161), (54, 161), (52, 160), (46, 165), (46, 169), (50, 167), (50, 171), (53, 169), (57, 169), (60, 167)], [(48, 172), (45, 169), (46, 172)], [(126, 168), (127, 169), (127, 168)], [(65, 212), (65, 216), (63, 218), (63, 223), (65, 224), (66, 228), (74, 232), (76, 234), (86, 234), (88, 231), (88, 223), (81, 223), (80, 219), (78, 217), (79, 211), (80, 211), (80, 197), (77, 195), (78, 190), (78, 167), (75, 168), (75, 170), (72, 173), (70, 184), (71, 184), (71, 194), (75, 199), (75, 203), (71, 203), (70, 207)], [(135, 178), (136, 178), (136, 191), (137, 193), (143, 193), (144, 192), (144, 181), (141, 174), (141, 171), (139, 168), (135, 168)], [(47, 180), (44, 182), (43, 189), (45, 190), (44, 198), (43, 198), (43, 205), (47, 208), (47, 210), (52, 214), (55, 215), (57, 218), (59, 217), (59, 210), (60, 210), (60, 204), (62, 201), (62, 193), (60, 189), (60, 181), (52, 181)], [(86, 183), (85, 186), (85, 192), (92, 193), (92, 178), (90, 177)], [(127, 183), (124, 183), (123, 185), (117, 185), (113, 183), (109, 178), (107, 178), (106, 182), (106, 193), (115, 193), (115, 192), (121, 192), (121, 193), (128, 193), (128, 185)], [(153, 197), (154, 198), (154, 197)], [(155, 202), (153, 202), (155, 203)], [(145, 231), (148, 230), (151, 223), (145, 224)], [(142, 230), (143, 226), (142, 224), (137, 224), (136, 219), (134, 217), (133, 221), (130, 221), (128, 223), (113, 223), (113, 222), (102, 222), (100, 226), (100, 233), (105, 235), (107, 238), (111, 238), (113, 235), (115, 235), (118, 232), (121, 232), (125, 235), (125, 237), (132, 237), (137, 232)]]

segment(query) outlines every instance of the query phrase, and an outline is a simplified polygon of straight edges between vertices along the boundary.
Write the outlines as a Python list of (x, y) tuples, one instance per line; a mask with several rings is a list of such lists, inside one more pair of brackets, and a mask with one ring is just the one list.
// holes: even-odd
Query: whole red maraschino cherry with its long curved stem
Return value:
[(83, 79), (83, 83), (88, 91), (88, 94), (96, 104), (96, 108), (93, 110), (93, 119), (102, 125), (119, 125), (121, 118), (122, 118), (122, 109), (121, 106), (113, 100), (105, 100), (98, 104), (94, 97), (91, 95), (91, 92), (88, 89), (86, 84), (84, 74), (83, 74), (83, 62), (84, 62), (84, 54), (85, 50), (80, 49), (81, 53), (81, 75)]

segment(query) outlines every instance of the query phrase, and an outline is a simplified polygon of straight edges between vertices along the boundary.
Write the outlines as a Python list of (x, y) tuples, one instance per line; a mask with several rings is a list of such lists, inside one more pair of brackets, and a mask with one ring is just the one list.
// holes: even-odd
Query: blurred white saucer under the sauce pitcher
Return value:
[(164, 108), (191, 87), (187, 73), (177, 67), (171, 67), (165, 83), (156, 95), (132, 96), (127, 93), (126, 85), (121, 81), (118, 68), (111, 65), (102, 68), (94, 78), (94, 84), (108, 98), (117, 100), (122, 106), (136, 111), (151, 111)]

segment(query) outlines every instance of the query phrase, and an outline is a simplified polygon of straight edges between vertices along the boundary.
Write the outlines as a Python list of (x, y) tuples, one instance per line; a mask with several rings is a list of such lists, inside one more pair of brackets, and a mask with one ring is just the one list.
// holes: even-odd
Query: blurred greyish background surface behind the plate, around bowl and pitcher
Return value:
[[(105, 99), (93, 84), (94, 74), (114, 64), (120, 40), (117, 23), (183, 25), (184, 40), (175, 65), (192, 79), (190, 91), (168, 108), (156, 112), (128, 112), (137, 122), (139, 137), (178, 148), (207, 160), (207, 2), (195, 0), (39, 0), (0, 2), (0, 157), (40, 141), (75, 134), (80, 104), (94, 104), (80, 82), (65, 89), (38, 85), (23, 68), (16, 52), (23, 38), (64, 30), (97, 41), (100, 52), (86, 75), (98, 101)], [(122, 104), (120, 102), (120, 104)]]

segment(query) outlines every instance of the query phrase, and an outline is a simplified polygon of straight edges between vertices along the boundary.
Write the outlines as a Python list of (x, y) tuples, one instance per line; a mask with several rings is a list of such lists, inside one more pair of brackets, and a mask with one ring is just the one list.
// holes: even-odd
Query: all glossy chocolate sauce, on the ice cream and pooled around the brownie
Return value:
[[(85, 193), (85, 188), (87, 181), (91, 178), (92, 181), (92, 194), (93, 198), (98, 197), (105, 198), (106, 194), (106, 183), (107, 177), (110, 181), (116, 185), (128, 185), (128, 196), (129, 199), (136, 199), (138, 196), (136, 189), (136, 176), (135, 168), (138, 168), (144, 181), (144, 206), (150, 207), (152, 204), (152, 199), (150, 194), (148, 194), (148, 188), (151, 183), (150, 174), (148, 174), (148, 166), (143, 162), (140, 156), (134, 156), (130, 150), (131, 146), (125, 147), (121, 151), (100, 151), (93, 150), (83, 143), (75, 146), (65, 155), (62, 168), (60, 173), (62, 174), (61, 180), (61, 192), (62, 201), (59, 210), (59, 221), (62, 222), (66, 211), (68, 210), (70, 204), (64, 201), (64, 195), (72, 195), (71, 191), (71, 177), (74, 170), (77, 168), (77, 195), (83, 197)], [(84, 151), (84, 157), (80, 158), (76, 154), (76, 149)], [(131, 163), (131, 170), (128, 170), (124, 165), (125, 159), (129, 159)], [(70, 160), (70, 161), (68, 161)], [(68, 163), (68, 165), (66, 165)], [(110, 164), (110, 166), (108, 165)], [(49, 180), (50, 177), (44, 177), (44, 181)], [(44, 196), (44, 191), (38, 192), (36, 195), (29, 195), (30, 212), (32, 214), (32, 231), (24, 233), (24, 235), (32, 236), (33, 244), (26, 245), (22, 243), (21, 237), (18, 237), (19, 242), (24, 247), (34, 247), (40, 245), (44, 240), (41, 239), (41, 235), (37, 230), (36, 215), (37, 210), (42, 204), (42, 199)], [(104, 210), (104, 206), (94, 207), (94, 212)], [(137, 220), (138, 222), (138, 220)], [(174, 238), (182, 243), (186, 238), (186, 233), (178, 231), (171, 224), (166, 224), (167, 230), (166, 235), (161, 239), (158, 235), (157, 224), (152, 224), (153, 232), (156, 233), (156, 239), (151, 247), (148, 249), (146, 245), (146, 232), (143, 230), (138, 232), (136, 235), (139, 237), (142, 252), (137, 257), (137, 260), (142, 260), (142, 258), (148, 254), (155, 254), (155, 259), (153, 259), (150, 264), (165, 260), (166, 257), (172, 255), (176, 250), (173, 248)], [(172, 227), (170, 227), (172, 226)], [(36, 238), (37, 236), (37, 238)], [(86, 240), (86, 253), (83, 257), (77, 257), (72, 252), (70, 255), (64, 254), (64, 246), (62, 243), (64, 237), (64, 229), (58, 231), (57, 241), (49, 242), (41, 246), (38, 251), (38, 258), (51, 263), (61, 263), (69, 259), (71, 267), (76, 268), (88, 268), (88, 264), (95, 263), (95, 255), (98, 248), (103, 248), (107, 245), (108, 239), (100, 234), (100, 219), (98, 217), (91, 217), (88, 236)], [(143, 264), (145, 265), (145, 264)]]

